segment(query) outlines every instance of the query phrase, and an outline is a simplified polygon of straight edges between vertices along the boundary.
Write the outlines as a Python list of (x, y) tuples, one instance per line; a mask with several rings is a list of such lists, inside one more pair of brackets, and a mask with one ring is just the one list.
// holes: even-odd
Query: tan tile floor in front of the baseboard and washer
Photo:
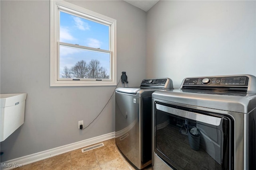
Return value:
[[(104, 146), (82, 152), (73, 150), (52, 158), (24, 165), (15, 170), (135, 170), (122, 156), (115, 139), (104, 141)], [(151, 170), (151, 166), (144, 170)]]

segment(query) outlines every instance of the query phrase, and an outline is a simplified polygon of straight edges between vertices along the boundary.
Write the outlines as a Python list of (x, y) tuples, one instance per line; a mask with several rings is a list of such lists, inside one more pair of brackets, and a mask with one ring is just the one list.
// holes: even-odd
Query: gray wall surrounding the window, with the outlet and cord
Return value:
[[(117, 76), (146, 77), (146, 12), (124, 1), (70, 1), (117, 20)], [(114, 132), (114, 86), (50, 87), (50, 1), (0, 1), (1, 94), (27, 93), (24, 124), (1, 142), (1, 162)], [(120, 84), (119, 86), (122, 86)]]

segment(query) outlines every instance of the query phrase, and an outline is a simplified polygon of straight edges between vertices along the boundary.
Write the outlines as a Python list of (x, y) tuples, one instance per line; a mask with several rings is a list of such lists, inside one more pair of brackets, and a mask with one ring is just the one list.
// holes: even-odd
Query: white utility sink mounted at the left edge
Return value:
[(24, 123), (27, 94), (0, 94), (0, 141), (4, 141)]

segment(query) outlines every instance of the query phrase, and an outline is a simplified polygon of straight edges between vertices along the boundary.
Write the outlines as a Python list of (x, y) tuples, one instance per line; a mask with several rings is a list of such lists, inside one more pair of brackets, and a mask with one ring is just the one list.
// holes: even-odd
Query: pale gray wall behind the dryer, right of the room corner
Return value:
[(164, 1), (147, 12), (147, 77), (256, 75), (256, 1)]

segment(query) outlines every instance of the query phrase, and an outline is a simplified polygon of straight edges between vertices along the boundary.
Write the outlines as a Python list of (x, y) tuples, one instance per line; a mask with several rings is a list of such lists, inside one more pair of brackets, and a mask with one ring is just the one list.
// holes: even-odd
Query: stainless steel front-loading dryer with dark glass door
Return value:
[(152, 94), (153, 170), (255, 170), (256, 77), (185, 78)]

